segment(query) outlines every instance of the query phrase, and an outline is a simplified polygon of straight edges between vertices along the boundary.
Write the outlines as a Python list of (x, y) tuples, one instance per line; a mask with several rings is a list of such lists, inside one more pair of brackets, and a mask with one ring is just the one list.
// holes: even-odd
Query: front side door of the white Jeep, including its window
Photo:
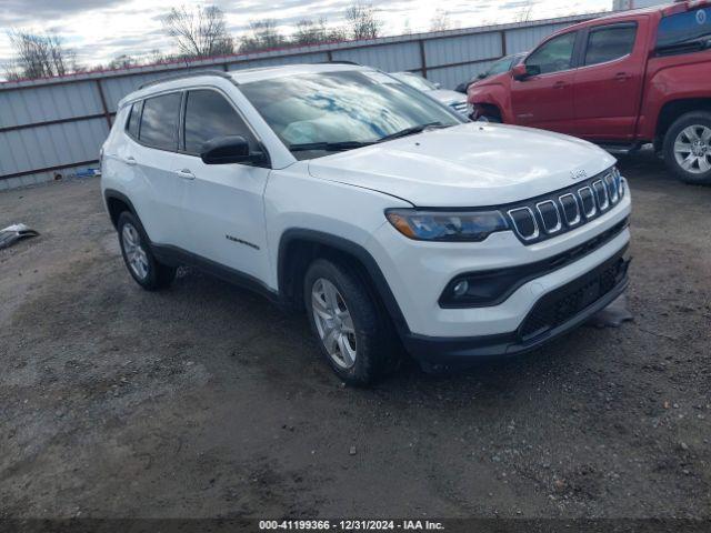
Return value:
[(187, 251), (262, 280), (268, 272), (263, 193), (270, 169), (256, 164), (206, 164), (206, 142), (242, 135), (259, 142), (228, 97), (216, 89), (187, 92), (182, 153), (176, 174), (186, 183), (182, 228)]

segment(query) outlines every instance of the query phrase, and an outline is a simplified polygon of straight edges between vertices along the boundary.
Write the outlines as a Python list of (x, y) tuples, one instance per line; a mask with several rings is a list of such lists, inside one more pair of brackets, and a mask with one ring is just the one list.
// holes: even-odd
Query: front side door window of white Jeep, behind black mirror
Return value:
[(186, 151), (198, 154), (216, 137), (243, 135), (249, 128), (226, 98), (214, 91), (190, 91), (186, 107)]

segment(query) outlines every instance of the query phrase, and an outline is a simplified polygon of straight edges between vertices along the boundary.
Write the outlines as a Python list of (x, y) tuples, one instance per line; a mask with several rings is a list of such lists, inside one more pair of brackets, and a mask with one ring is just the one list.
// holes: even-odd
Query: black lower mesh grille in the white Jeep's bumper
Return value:
[(528, 314), (519, 336), (529, 341), (563, 324), (614, 289), (625, 276), (629, 261), (615, 255), (591, 272), (544, 295)]

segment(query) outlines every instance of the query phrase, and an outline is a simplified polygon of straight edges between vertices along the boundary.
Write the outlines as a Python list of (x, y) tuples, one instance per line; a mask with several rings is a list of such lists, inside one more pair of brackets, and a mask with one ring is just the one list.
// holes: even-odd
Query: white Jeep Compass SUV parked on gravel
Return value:
[(306, 310), (346, 382), (531, 350), (627, 286), (601, 149), (467, 122), (382, 72), (200, 72), (126, 97), (102, 193), (144, 289), (190, 264)]

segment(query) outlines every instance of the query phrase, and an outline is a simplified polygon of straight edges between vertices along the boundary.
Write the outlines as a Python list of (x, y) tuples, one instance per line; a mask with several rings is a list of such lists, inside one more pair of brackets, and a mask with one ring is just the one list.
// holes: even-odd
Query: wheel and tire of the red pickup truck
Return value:
[(681, 181), (711, 184), (711, 113), (692, 111), (678, 118), (664, 135), (663, 153), (667, 167)]

